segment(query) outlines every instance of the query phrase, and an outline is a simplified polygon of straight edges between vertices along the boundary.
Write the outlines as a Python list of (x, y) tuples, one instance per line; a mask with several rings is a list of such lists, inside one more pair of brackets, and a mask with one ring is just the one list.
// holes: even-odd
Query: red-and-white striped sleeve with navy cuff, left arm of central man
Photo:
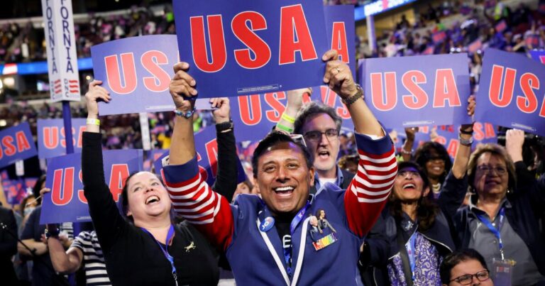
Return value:
[(176, 213), (226, 250), (234, 231), (231, 205), (203, 179), (197, 157), (183, 165), (163, 164), (161, 174)]

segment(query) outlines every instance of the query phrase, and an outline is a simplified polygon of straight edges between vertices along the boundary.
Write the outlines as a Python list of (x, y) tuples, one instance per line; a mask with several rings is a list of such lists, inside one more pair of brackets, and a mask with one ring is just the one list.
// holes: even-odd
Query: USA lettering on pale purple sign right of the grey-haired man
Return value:
[[(402, 94), (402, 104), (408, 109), (422, 109), (429, 103), (427, 94), (420, 84), (428, 79), (424, 72), (409, 70), (401, 77), (401, 84), (409, 94)], [(397, 72), (373, 72), (370, 74), (371, 101), (379, 111), (390, 111), (397, 106)], [(460, 94), (451, 69), (436, 70), (434, 94), (431, 94), (434, 108), (461, 106)]]

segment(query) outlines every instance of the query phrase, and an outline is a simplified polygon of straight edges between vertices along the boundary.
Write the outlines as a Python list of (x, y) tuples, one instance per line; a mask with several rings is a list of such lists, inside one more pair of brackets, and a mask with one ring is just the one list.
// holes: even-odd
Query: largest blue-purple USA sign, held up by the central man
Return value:
[(199, 97), (321, 84), (328, 50), (321, 0), (187, 0), (173, 8), (180, 59)]

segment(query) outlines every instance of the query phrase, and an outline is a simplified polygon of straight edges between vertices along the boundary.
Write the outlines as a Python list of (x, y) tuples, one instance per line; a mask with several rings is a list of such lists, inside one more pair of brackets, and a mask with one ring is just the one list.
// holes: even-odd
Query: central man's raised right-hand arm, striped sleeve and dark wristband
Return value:
[(338, 60), (335, 50), (329, 50), (324, 82), (329, 84), (346, 105), (356, 130), (356, 145), (360, 160), (358, 172), (344, 195), (348, 227), (363, 237), (380, 216), (397, 173), (394, 145), (363, 101), (363, 90), (356, 86), (348, 65)]

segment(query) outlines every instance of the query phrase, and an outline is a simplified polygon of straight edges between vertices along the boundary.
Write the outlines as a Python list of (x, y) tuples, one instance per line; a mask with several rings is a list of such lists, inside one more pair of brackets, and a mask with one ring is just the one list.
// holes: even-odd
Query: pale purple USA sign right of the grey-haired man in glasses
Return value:
[(466, 54), (365, 60), (365, 101), (387, 127), (469, 123), (469, 95)]

